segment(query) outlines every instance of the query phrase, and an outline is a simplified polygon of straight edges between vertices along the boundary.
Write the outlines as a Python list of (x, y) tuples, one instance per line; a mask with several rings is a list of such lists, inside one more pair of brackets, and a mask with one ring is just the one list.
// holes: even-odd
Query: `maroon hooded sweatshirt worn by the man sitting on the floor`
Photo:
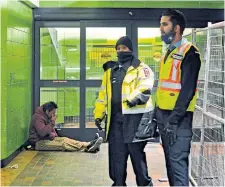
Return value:
[(38, 107), (30, 122), (29, 141), (53, 140), (56, 136), (54, 122), (44, 113), (43, 106)]

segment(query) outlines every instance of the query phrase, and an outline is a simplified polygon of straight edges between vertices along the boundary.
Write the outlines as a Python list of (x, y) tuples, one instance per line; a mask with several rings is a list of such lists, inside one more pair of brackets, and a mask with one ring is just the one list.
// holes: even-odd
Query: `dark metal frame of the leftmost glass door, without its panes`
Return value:
[[(79, 88), (81, 80), (41, 80), (40, 79), (40, 60), (41, 60), (41, 43), (40, 43), (40, 29), (41, 28), (80, 28), (79, 21), (35, 21), (34, 22), (34, 70), (33, 70), (33, 113), (35, 109), (40, 105), (40, 89), (41, 88)], [(81, 33), (81, 31), (80, 31)], [(81, 41), (81, 35), (80, 35)], [(81, 46), (80, 46), (81, 48)], [(81, 61), (81, 54), (80, 54), (80, 61)], [(80, 63), (81, 64), (81, 63)], [(82, 72), (80, 71), (80, 74)], [(81, 77), (81, 75), (80, 75)], [(81, 117), (81, 112), (80, 112)], [(76, 129), (76, 131), (71, 132), (71, 128), (58, 128), (58, 133), (60, 136), (67, 136), (70, 138), (80, 139), (80, 134), (82, 133), (81, 124), (79, 128), (72, 128)]]

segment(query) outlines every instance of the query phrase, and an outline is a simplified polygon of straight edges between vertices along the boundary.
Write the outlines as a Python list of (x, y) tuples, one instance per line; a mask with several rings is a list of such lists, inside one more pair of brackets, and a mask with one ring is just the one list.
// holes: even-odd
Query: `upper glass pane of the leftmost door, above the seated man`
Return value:
[(80, 28), (40, 29), (41, 80), (80, 79)]

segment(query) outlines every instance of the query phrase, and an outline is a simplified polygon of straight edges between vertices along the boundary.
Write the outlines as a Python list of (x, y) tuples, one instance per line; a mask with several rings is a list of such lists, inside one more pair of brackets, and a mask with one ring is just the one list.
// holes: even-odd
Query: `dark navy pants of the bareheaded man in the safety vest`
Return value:
[[(189, 154), (191, 148), (191, 123), (192, 115), (187, 114), (179, 124), (176, 142), (171, 146), (163, 131), (170, 112), (157, 110), (157, 125), (162, 138), (162, 146), (165, 154), (167, 176), (170, 186), (189, 186)], [(190, 127), (190, 128), (187, 128)]]

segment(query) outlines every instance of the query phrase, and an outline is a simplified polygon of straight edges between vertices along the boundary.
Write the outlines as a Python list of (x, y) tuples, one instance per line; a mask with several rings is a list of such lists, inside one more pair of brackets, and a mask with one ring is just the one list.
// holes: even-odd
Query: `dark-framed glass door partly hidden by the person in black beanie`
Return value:
[[(92, 137), (97, 128), (94, 123), (94, 104), (101, 87), (103, 64), (109, 60), (117, 60), (115, 44), (121, 36), (131, 37), (130, 24), (123, 21), (91, 21), (85, 25), (85, 136)], [(104, 126), (104, 124), (103, 124)], [(105, 136), (105, 132), (99, 132)]]

